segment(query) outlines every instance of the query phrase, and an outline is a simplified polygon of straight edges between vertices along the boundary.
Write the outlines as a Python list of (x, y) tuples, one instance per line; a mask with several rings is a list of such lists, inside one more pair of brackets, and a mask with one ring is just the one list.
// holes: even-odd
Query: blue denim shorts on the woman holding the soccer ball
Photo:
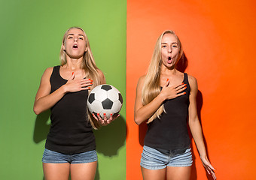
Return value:
[(62, 154), (56, 151), (50, 151), (47, 148), (44, 149), (42, 158), (43, 163), (91, 163), (97, 160), (96, 150), (78, 154)]

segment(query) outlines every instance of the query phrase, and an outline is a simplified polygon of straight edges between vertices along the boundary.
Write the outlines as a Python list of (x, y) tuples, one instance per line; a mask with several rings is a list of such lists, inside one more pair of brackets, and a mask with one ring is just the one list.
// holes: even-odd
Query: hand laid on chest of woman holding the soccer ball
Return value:
[(93, 85), (93, 80), (83, 79), (83, 80), (75, 80), (75, 74), (69, 78), (66, 83), (65, 92), (80, 92), (82, 90), (90, 89), (90, 86)]

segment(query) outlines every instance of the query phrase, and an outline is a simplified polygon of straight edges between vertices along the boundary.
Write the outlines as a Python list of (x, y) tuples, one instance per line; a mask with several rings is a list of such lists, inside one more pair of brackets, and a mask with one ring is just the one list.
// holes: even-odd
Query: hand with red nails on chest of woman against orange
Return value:
[(178, 86), (169, 86), (169, 79), (167, 79), (166, 83), (163, 85), (160, 95), (163, 95), (166, 100), (174, 99), (178, 96), (185, 95), (186, 92), (183, 92), (185, 89), (187, 89), (187, 85), (184, 83), (181, 83)]

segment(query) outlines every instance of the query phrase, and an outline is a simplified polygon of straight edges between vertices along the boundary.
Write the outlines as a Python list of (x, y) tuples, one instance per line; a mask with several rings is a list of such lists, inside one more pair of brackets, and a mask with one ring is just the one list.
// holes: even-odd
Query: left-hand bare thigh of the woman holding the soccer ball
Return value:
[(68, 180), (70, 163), (43, 163), (45, 180)]

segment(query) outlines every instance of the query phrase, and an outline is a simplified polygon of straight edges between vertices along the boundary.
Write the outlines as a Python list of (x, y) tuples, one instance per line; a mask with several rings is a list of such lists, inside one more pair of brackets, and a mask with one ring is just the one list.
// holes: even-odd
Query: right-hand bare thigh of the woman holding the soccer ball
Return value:
[(72, 163), (72, 180), (93, 180), (96, 174), (97, 161), (91, 163)]

